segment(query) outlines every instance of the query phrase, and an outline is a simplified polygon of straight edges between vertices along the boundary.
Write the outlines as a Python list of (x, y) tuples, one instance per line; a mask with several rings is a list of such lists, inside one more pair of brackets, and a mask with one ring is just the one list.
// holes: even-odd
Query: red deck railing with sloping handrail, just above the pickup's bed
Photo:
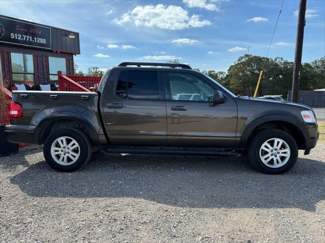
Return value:
[(59, 91), (97, 92), (102, 77), (58, 74)]

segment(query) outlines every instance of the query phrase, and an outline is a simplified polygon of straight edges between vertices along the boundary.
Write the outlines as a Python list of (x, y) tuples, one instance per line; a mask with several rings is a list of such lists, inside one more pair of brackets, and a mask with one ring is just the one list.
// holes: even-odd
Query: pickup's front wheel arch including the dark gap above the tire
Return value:
[(246, 148), (251, 138), (264, 129), (277, 128), (289, 133), (294, 137), (298, 148), (305, 149), (305, 137), (303, 131), (299, 128), (303, 123), (297, 119), (289, 119), (287, 115), (266, 115), (257, 118), (249, 123), (242, 133), (239, 146)]

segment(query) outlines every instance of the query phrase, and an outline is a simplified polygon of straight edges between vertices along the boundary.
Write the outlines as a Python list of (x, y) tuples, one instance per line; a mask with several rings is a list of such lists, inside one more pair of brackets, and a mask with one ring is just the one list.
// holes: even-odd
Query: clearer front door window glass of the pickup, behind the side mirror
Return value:
[(196, 75), (183, 72), (167, 73), (172, 100), (207, 101), (213, 87)]

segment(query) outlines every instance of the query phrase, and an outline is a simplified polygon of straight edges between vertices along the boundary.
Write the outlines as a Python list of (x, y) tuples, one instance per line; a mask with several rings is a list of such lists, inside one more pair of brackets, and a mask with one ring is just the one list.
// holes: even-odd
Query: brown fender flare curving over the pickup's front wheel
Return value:
[(239, 141), (239, 147), (240, 148), (246, 148), (248, 138), (250, 137), (253, 130), (258, 127), (259, 125), (263, 123), (268, 123), (272, 121), (285, 121), (286, 123), (289, 123), (296, 127), (304, 136), (305, 133), (300, 129), (300, 126), (303, 124), (303, 121), (300, 121), (298, 118), (293, 116), (288, 116), (287, 114), (270, 114), (270, 115), (264, 115), (261, 117), (256, 118), (255, 120), (252, 120), (244, 129), (242, 136)]

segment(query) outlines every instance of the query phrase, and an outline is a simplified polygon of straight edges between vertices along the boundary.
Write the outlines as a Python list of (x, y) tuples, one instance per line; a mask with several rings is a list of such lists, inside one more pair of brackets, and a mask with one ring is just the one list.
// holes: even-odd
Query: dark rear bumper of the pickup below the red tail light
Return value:
[(7, 125), (5, 128), (6, 139), (12, 143), (37, 144), (34, 138), (35, 126)]

